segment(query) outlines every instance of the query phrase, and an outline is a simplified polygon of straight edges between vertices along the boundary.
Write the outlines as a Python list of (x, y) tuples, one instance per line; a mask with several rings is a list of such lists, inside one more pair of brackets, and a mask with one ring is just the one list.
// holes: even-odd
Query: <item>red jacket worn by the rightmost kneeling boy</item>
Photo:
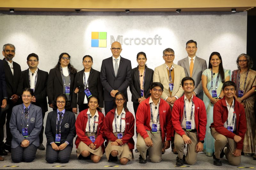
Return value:
[(236, 144), (236, 149), (243, 149), (244, 135), (246, 132), (245, 111), (243, 105), (236, 101), (235, 98), (234, 101), (234, 111), (236, 112), (236, 134), (228, 131), (228, 129), (224, 127), (224, 123), (226, 123), (228, 119), (228, 107), (225, 96), (213, 106), (213, 123), (210, 127), (214, 127), (221, 135), (231, 139), (234, 139), (235, 135), (242, 137), (242, 140)]

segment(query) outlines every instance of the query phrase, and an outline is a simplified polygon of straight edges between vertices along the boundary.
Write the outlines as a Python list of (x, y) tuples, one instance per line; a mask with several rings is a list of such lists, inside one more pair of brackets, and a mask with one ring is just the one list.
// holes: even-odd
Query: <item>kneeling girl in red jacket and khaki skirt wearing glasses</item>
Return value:
[(106, 156), (109, 162), (117, 161), (125, 165), (133, 159), (134, 117), (124, 105), (126, 99), (122, 92), (115, 95), (114, 109), (110, 110), (104, 120), (104, 133), (108, 138)]

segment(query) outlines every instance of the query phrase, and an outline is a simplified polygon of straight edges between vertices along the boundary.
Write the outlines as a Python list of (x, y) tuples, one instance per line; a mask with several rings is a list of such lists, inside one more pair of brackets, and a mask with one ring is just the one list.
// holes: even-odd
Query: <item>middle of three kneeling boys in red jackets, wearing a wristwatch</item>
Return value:
[[(175, 129), (174, 146), (178, 152), (176, 165), (194, 165), (197, 153), (204, 149), (206, 130), (206, 110), (204, 102), (193, 95), (195, 81), (191, 77), (181, 80), (184, 95), (174, 102), (172, 108), (172, 125)], [(184, 146), (187, 144), (187, 154)]]

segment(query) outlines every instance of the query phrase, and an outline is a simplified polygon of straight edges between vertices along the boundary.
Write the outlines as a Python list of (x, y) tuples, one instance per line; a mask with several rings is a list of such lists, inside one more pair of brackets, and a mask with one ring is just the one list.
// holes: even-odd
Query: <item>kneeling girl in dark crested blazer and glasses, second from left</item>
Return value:
[[(47, 138), (46, 158), (48, 163), (68, 163), (76, 136), (76, 117), (65, 109), (67, 96), (60, 94), (55, 100), (57, 110), (48, 113), (45, 135)], [(57, 130), (56, 130), (57, 129)]]

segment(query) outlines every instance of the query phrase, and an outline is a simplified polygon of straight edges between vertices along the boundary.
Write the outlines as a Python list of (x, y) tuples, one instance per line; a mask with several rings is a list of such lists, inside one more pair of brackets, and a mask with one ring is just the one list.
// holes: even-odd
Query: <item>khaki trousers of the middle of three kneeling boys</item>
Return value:
[[(191, 144), (187, 144), (187, 154), (186, 154), (185, 160), (188, 163), (188, 165), (194, 165), (197, 161), (196, 159), (197, 157), (196, 145), (198, 143), (197, 132), (190, 132), (187, 130), (184, 130), (184, 131), (192, 141)], [(178, 152), (178, 157), (182, 159), (185, 143), (183, 138), (178, 133), (175, 133), (174, 135), (174, 146), (176, 151)]]

